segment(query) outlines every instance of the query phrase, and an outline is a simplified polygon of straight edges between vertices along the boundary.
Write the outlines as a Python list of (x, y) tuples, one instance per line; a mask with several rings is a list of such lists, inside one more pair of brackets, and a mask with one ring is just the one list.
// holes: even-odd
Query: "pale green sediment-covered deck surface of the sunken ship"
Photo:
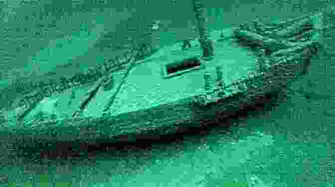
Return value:
[[(173, 103), (177, 100), (201, 95), (204, 93), (203, 73), (209, 72), (215, 84), (215, 66), (222, 65), (224, 83), (229, 85), (233, 80), (246, 77), (248, 73), (256, 71), (257, 57), (255, 52), (248, 47), (241, 47), (230, 38), (231, 28), (223, 31), (224, 41), (220, 38), (220, 31), (210, 33), (215, 47), (215, 58), (203, 62), (200, 68), (195, 68), (186, 73), (165, 78), (162, 72), (163, 66), (187, 58), (201, 55), (198, 41), (191, 41), (191, 48), (181, 50), (181, 43), (166, 46), (156, 52), (142, 63), (136, 63), (131, 69), (125, 82), (118, 91), (114, 103), (109, 108), (111, 115), (119, 115), (137, 110), (148, 109), (162, 104)], [(115, 85), (122, 80), (125, 70), (113, 72)], [(60, 118), (69, 117), (75, 112), (86, 91), (92, 84), (70, 88), (63, 93), (55, 94), (40, 102), (25, 119), (33, 120), (40, 111), (47, 114), (55, 114)], [(83, 116), (101, 116), (108, 98), (116, 92), (113, 89), (105, 91), (99, 88), (96, 95), (82, 111)], [(75, 97), (71, 99), (72, 92)], [(69, 104), (69, 101), (71, 103)], [(55, 105), (57, 103), (57, 105)]]

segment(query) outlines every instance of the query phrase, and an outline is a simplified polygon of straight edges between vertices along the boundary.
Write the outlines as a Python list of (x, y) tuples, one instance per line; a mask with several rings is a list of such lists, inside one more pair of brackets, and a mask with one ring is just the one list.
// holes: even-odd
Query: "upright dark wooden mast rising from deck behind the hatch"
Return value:
[(206, 17), (203, 15), (203, 5), (200, 3), (200, 0), (192, 0), (192, 4), (200, 36), (199, 43), (202, 49), (202, 59), (211, 60), (214, 57), (214, 45), (213, 42), (210, 40), (210, 36), (206, 28), (207, 20)]

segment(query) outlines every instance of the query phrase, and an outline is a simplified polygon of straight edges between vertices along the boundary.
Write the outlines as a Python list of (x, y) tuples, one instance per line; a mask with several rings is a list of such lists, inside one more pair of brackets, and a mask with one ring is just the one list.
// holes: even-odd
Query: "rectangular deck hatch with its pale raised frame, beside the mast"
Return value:
[(198, 69), (201, 62), (196, 57), (168, 63), (164, 66), (164, 78), (177, 76), (193, 69)]

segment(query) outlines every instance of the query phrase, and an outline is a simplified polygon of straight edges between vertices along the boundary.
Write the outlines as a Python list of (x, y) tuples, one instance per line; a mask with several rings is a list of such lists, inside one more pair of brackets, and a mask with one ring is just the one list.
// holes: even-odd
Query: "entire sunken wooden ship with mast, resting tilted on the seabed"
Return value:
[(201, 5), (193, 5), (199, 38), (157, 50), (142, 45), (43, 85), (3, 115), (2, 132), (93, 143), (174, 133), (266, 102), (304, 75), (322, 47), (323, 13), (208, 32)]

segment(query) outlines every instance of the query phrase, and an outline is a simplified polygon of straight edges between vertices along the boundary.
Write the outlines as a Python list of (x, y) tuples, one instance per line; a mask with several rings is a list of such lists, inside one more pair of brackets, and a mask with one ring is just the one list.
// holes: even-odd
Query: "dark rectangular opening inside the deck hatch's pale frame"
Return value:
[(200, 61), (197, 58), (184, 59), (181, 62), (174, 62), (167, 64), (167, 75), (178, 71), (190, 69), (192, 67), (200, 66)]

